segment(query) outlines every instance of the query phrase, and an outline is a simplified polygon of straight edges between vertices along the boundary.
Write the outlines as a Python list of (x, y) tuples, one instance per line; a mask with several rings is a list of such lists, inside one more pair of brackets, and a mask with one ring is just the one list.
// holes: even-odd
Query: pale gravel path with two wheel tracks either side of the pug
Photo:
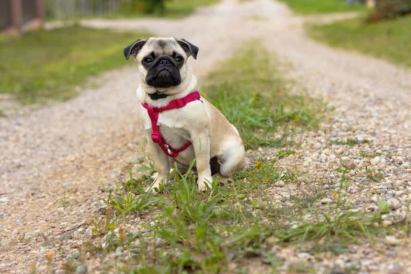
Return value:
[[(321, 179), (331, 190), (339, 187), (335, 185), (336, 167), (353, 166), (349, 188), (343, 190), (347, 199), (364, 210), (391, 199), (396, 210), (386, 220), (400, 219), (411, 201), (410, 71), (313, 42), (303, 34), (301, 23), (306, 20), (312, 18), (293, 16), (280, 3), (257, 0), (224, 1), (182, 21), (92, 20), (82, 24), (145, 28), (158, 36), (186, 38), (200, 47), (199, 59), (191, 63), (200, 78), (229, 58), (241, 42), (262, 38), (268, 49), (293, 64), (293, 76), (301, 86), (335, 107), (332, 118), (318, 132), (306, 133), (303, 147), (284, 159), (284, 164), (301, 164), (312, 179)], [(38, 271), (45, 272), (49, 251), (55, 257), (54, 267), (60, 267), (66, 255), (78, 252), (90, 236), (86, 223), (101, 206), (99, 179), (109, 183), (122, 178), (127, 164), (138, 161), (130, 149), (143, 142), (135, 108), (136, 68), (105, 73), (101, 82), (99, 88), (84, 90), (71, 101), (27, 116), (0, 119), (0, 271), (28, 271), (37, 264)], [(352, 148), (327, 146), (329, 140), (347, 138), (360, 141)], [(379, 155), (363, 158), (360, 151)], [(368, 164), (384, 174), (381, 183), (366, 178)], [(286, 199), (282, 192), (277, 193), (279, 201)], [(64, 202), (71, 206), (64, 208)], [(43, 245), (50, 240), (53, 245)], [(324, 270), (335, 265), (343, 269), (355, 262), (364, 272), (411, 273), (410, 240), (391, 244), (356, 247), (355, 253), (326, 256), (315, 264)], [(284, 271), (290, 264), (310, 260), (291, 249), (283, 254), (287, 258)]]

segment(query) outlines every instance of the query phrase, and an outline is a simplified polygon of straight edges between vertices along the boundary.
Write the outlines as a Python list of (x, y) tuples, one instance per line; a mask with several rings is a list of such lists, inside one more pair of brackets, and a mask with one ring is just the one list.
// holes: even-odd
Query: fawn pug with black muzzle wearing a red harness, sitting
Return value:
[(141, 78), (138, 108), (147, 151), (158, 171), (149, 191), (167, 184), (175, 163), (180, 173), (186, 173), (195, 160), (201, 191), (212, 187), (213, 175), (229, 178), (245, 169), (245, 148), (238, 130), (198, 93), (197, 78), (187, 65), (190, 56), (197, 60), (198, 51), (177, 38), (139, 39), (123, 51), (126, 60), (132, 56), (137, 62)]

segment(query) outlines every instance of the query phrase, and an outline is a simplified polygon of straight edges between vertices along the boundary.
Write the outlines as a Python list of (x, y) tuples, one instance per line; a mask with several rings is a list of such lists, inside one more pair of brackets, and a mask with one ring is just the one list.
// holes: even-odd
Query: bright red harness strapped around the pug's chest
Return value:
[[(171, 145), (169, 145), (169, 143), (166, 141), (166, 139), (162, 138), (161, 134), (160, 134), (160, 127), (157, 125), (158, 122), (158, 114), (160, 114), (160, 112), (164, 112), (166, 110), (173, 110), (175, 108), (183, 108), (186, 104), (195, 101), (195, 100), (199, 100), (200, 94), (198, 91), (192, 92), (189, 95), (187, 95), (184, 98), (180, 98), (180, 99), (175, 99), (173, 101), (171, 101), (168, 105), (166, 105), (165, 107), (162, 108), (156, 108), (153, 107), (153, 105), (149, 105), (148, 103), (142, 103), (141, 105), (147, 109), (147, 112), (149, 113), (150, 116), (150, 120), (151, 120), (151, 127), (153, 128), (153, 133), (151, 134), (151, 139), (153, 140), (153, 142), (155, 142), (156, 144), (158, 144), (162, 151), (164, 151), (164, 153), (166, 153), (166, 155), (169, 155), (172, 158), (176, 158), (178, 156), (178, 153), (186, 150), (188, 147), (190, 147), (191, 142), (186, 142), (185, 145), (183, 145), (182, 147), (180, 147), (179, 149), (173, 149), (173, 147), (171, 147)], [(201, 100), (200, 100), (201, 101)], [(201, 101), (202, 102), (202, 101)], [(169, 153), (169, 151), (171, 151), (171, 153)]]

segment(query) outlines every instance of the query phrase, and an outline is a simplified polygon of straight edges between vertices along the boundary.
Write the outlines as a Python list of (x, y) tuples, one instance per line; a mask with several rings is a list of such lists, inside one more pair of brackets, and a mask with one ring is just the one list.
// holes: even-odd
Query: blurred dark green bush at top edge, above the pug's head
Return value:
[(169, 0), (129, 0), (121, 4), (121, 10), (126, 13), (164, 14), (166, 1)]

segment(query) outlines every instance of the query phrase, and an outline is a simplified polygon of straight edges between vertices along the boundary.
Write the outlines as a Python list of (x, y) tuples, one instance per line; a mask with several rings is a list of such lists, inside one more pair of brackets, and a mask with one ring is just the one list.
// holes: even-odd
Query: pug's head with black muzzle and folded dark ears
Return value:
[(184, 39), (148, 38), (136, 40), (124, 49), (125, 58), (132, 55), (139, 64), (140, 77), (153, 88), (179, 86), (187, 77), (188, 57), (197, 59), (199, 49)]

